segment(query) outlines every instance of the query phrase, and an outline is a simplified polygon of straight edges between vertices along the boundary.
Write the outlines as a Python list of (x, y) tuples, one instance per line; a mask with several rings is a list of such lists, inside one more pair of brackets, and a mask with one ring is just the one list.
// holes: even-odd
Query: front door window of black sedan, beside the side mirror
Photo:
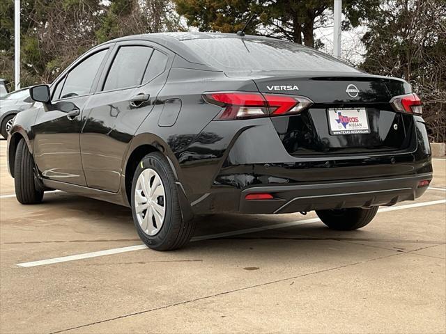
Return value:
[(90, 93), (100, 63), (107, 51), (108, 49), (105, 49), (89, 56), (70, 70), (62, 88), (61, 99)]

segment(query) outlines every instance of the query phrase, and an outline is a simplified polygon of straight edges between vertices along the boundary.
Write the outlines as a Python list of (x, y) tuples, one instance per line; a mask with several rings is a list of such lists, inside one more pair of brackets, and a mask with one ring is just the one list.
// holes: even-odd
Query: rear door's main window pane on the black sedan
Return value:
[(110, 67), (103, 90), (130, 88), (140, 85), (152, 52), (151, 47), (120, 47), (112, 67)]

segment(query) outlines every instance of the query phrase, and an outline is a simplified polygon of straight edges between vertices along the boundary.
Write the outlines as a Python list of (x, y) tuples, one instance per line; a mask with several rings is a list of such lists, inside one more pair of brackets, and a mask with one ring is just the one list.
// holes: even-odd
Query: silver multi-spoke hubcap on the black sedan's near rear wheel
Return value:
[(160, 232), (166, 213), (166, 196), (160, 175), (152, 168), (142, 171), (134, 189), (134, 210), (141, 229), (148, 235)]

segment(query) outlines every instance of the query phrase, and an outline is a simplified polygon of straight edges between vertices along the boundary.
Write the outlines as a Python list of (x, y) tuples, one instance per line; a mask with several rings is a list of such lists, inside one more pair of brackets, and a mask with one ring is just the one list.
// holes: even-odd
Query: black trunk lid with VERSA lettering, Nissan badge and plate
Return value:
[(298, 115), (271, 117), (293, 156), (392, 153), (410, 147), (413, 116), (395, 112), (389, 103), (410, 93), (406, 81), (365, 73), (257, 72), (249, 77), (261, 93), (300, 95), (314, 102)]

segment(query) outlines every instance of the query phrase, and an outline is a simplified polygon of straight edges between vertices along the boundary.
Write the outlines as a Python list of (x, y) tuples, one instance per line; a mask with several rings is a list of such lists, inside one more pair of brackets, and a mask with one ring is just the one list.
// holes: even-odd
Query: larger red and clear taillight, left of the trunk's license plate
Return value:
[(221, 106), (218, 120), (237, 120), (300, 113), (313, 102), (307, 97), (243, 92), (204, 93), (203, 99)]

